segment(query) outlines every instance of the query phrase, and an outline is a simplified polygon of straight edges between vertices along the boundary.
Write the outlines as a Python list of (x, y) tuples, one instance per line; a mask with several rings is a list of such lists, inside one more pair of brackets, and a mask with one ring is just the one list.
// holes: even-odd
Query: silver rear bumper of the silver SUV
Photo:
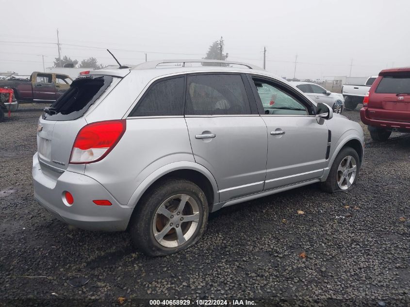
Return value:
[[(127, 228), (132, 208), (120, 205), (96, 180), (88, 176), (65, 171), (57, 179), (45, 175), (33, 156), (34, 198), (57, 219), (66, 224), (87, 230), (123, 231)], [(70, 192), (74, 203), (67, 206), (63, 193)], [(97, 206), (96, 199), (107, 199), (112, 206)]]

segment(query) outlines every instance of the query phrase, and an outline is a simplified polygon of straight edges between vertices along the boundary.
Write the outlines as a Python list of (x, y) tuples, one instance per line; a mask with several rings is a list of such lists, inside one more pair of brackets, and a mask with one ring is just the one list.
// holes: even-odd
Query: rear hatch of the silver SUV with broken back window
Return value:
[(77, 133), (87, 125), (83, 115), (110, 92), (118, 82), (113, 79), (118, 78), (77, 78), (63, 96), (44, 109), (37, 127), (38, 161), (43, 173), (56, 178), (66, 170)]

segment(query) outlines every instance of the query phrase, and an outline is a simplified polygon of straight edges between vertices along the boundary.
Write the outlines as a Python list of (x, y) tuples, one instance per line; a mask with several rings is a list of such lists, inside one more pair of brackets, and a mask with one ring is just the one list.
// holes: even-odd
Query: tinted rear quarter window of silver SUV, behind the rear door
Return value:
[(185, 78), (173, 78), (152, 85), (129, 116), (183, 115)]

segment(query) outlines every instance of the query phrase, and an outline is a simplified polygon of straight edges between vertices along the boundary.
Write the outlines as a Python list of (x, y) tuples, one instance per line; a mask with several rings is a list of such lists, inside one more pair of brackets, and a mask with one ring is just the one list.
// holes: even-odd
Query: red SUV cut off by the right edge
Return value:
[(360, 118), (375, 141), (392, 131), (410, 133), (410, 67), (380, 71), (363, 99)]

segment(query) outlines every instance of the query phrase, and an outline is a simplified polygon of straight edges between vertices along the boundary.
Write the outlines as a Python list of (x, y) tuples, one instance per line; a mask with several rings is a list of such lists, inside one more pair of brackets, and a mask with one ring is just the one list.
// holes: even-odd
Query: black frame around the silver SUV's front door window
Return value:
[[(286, 83), (282, 83), (278, 80), (271, 79), (271, 78), (266, 77), (266, 76), (249, 75), (249, 77), (250, 77), (250, 80), (252, 80), (252, 84), (251, 84), (252, 90), (254, 92), (254, 96), (255, 96), (255, 93), (256, 93), (255, 98), (257, 99), (258, 110), (260, 110), (259, 112), (260, 112), (261, 115), (266, 115), (266, 114), (265, 114), (265, 110), (263, 109), (262, 100), (258, 95), (258, 90), (256, 89), (253, 78), (260, 79), (260, 80), (266, 81), (266, 82), (270, 82), (274, 86), (277, 86), (280, 90), (285, 92), (285, 94), (293, 97), (298, 102), (302, 103), (308, 109), (308, 112), (309, 112), (309, 115), (290, 115), (290, 116), (312, 116), (312, 115), (315, 115), (314, 105), (311, 103), (311, 101), (309, 101), (309, 99), (304, 97), (303, 95), (300, 95), (299, 92), (297, 92), (294, 88), (287, 85)], [(269, 115), (269, 116), (283, 116), (283, 115)]]

